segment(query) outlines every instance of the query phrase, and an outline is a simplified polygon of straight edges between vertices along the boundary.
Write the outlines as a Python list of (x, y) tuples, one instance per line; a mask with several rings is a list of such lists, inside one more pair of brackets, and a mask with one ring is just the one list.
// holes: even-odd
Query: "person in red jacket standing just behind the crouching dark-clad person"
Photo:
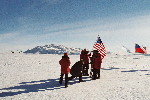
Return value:
[(89, 57), (91, 54), (88, 54), (89, 51), (86, 51), (86, 49), (81, 51), (80, 54), (80, 60), (83, 59), (83, 76), (89, 76), (88, 69), (89, 69)]

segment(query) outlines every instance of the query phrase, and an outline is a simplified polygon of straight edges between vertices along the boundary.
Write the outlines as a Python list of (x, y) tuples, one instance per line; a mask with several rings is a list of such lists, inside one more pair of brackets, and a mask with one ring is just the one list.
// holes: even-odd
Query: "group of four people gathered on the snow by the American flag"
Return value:
[[(61, 65), (61, 75), (59, 83), (62, 84), (63, 76), (65, 75), (65, 87), (68, 87), (68, 81), (75, 77), (79, 77), (79, 82), (83, 82), (82, 76), (89, 76), (89, 64), (91, 64), (92, 80), (100, 79), (100, 69), (101, 69), (101, 54), (97, 50), (93, 50), (93, 55), (89, 54), (86, 49), (81, 51), (80, 61), (76, 62), (70, 69), (70, 58), (68, 53), (64, 53), (62, 59), (59, 61)], [(71, 77), (68, 77), (68, 74)]]

